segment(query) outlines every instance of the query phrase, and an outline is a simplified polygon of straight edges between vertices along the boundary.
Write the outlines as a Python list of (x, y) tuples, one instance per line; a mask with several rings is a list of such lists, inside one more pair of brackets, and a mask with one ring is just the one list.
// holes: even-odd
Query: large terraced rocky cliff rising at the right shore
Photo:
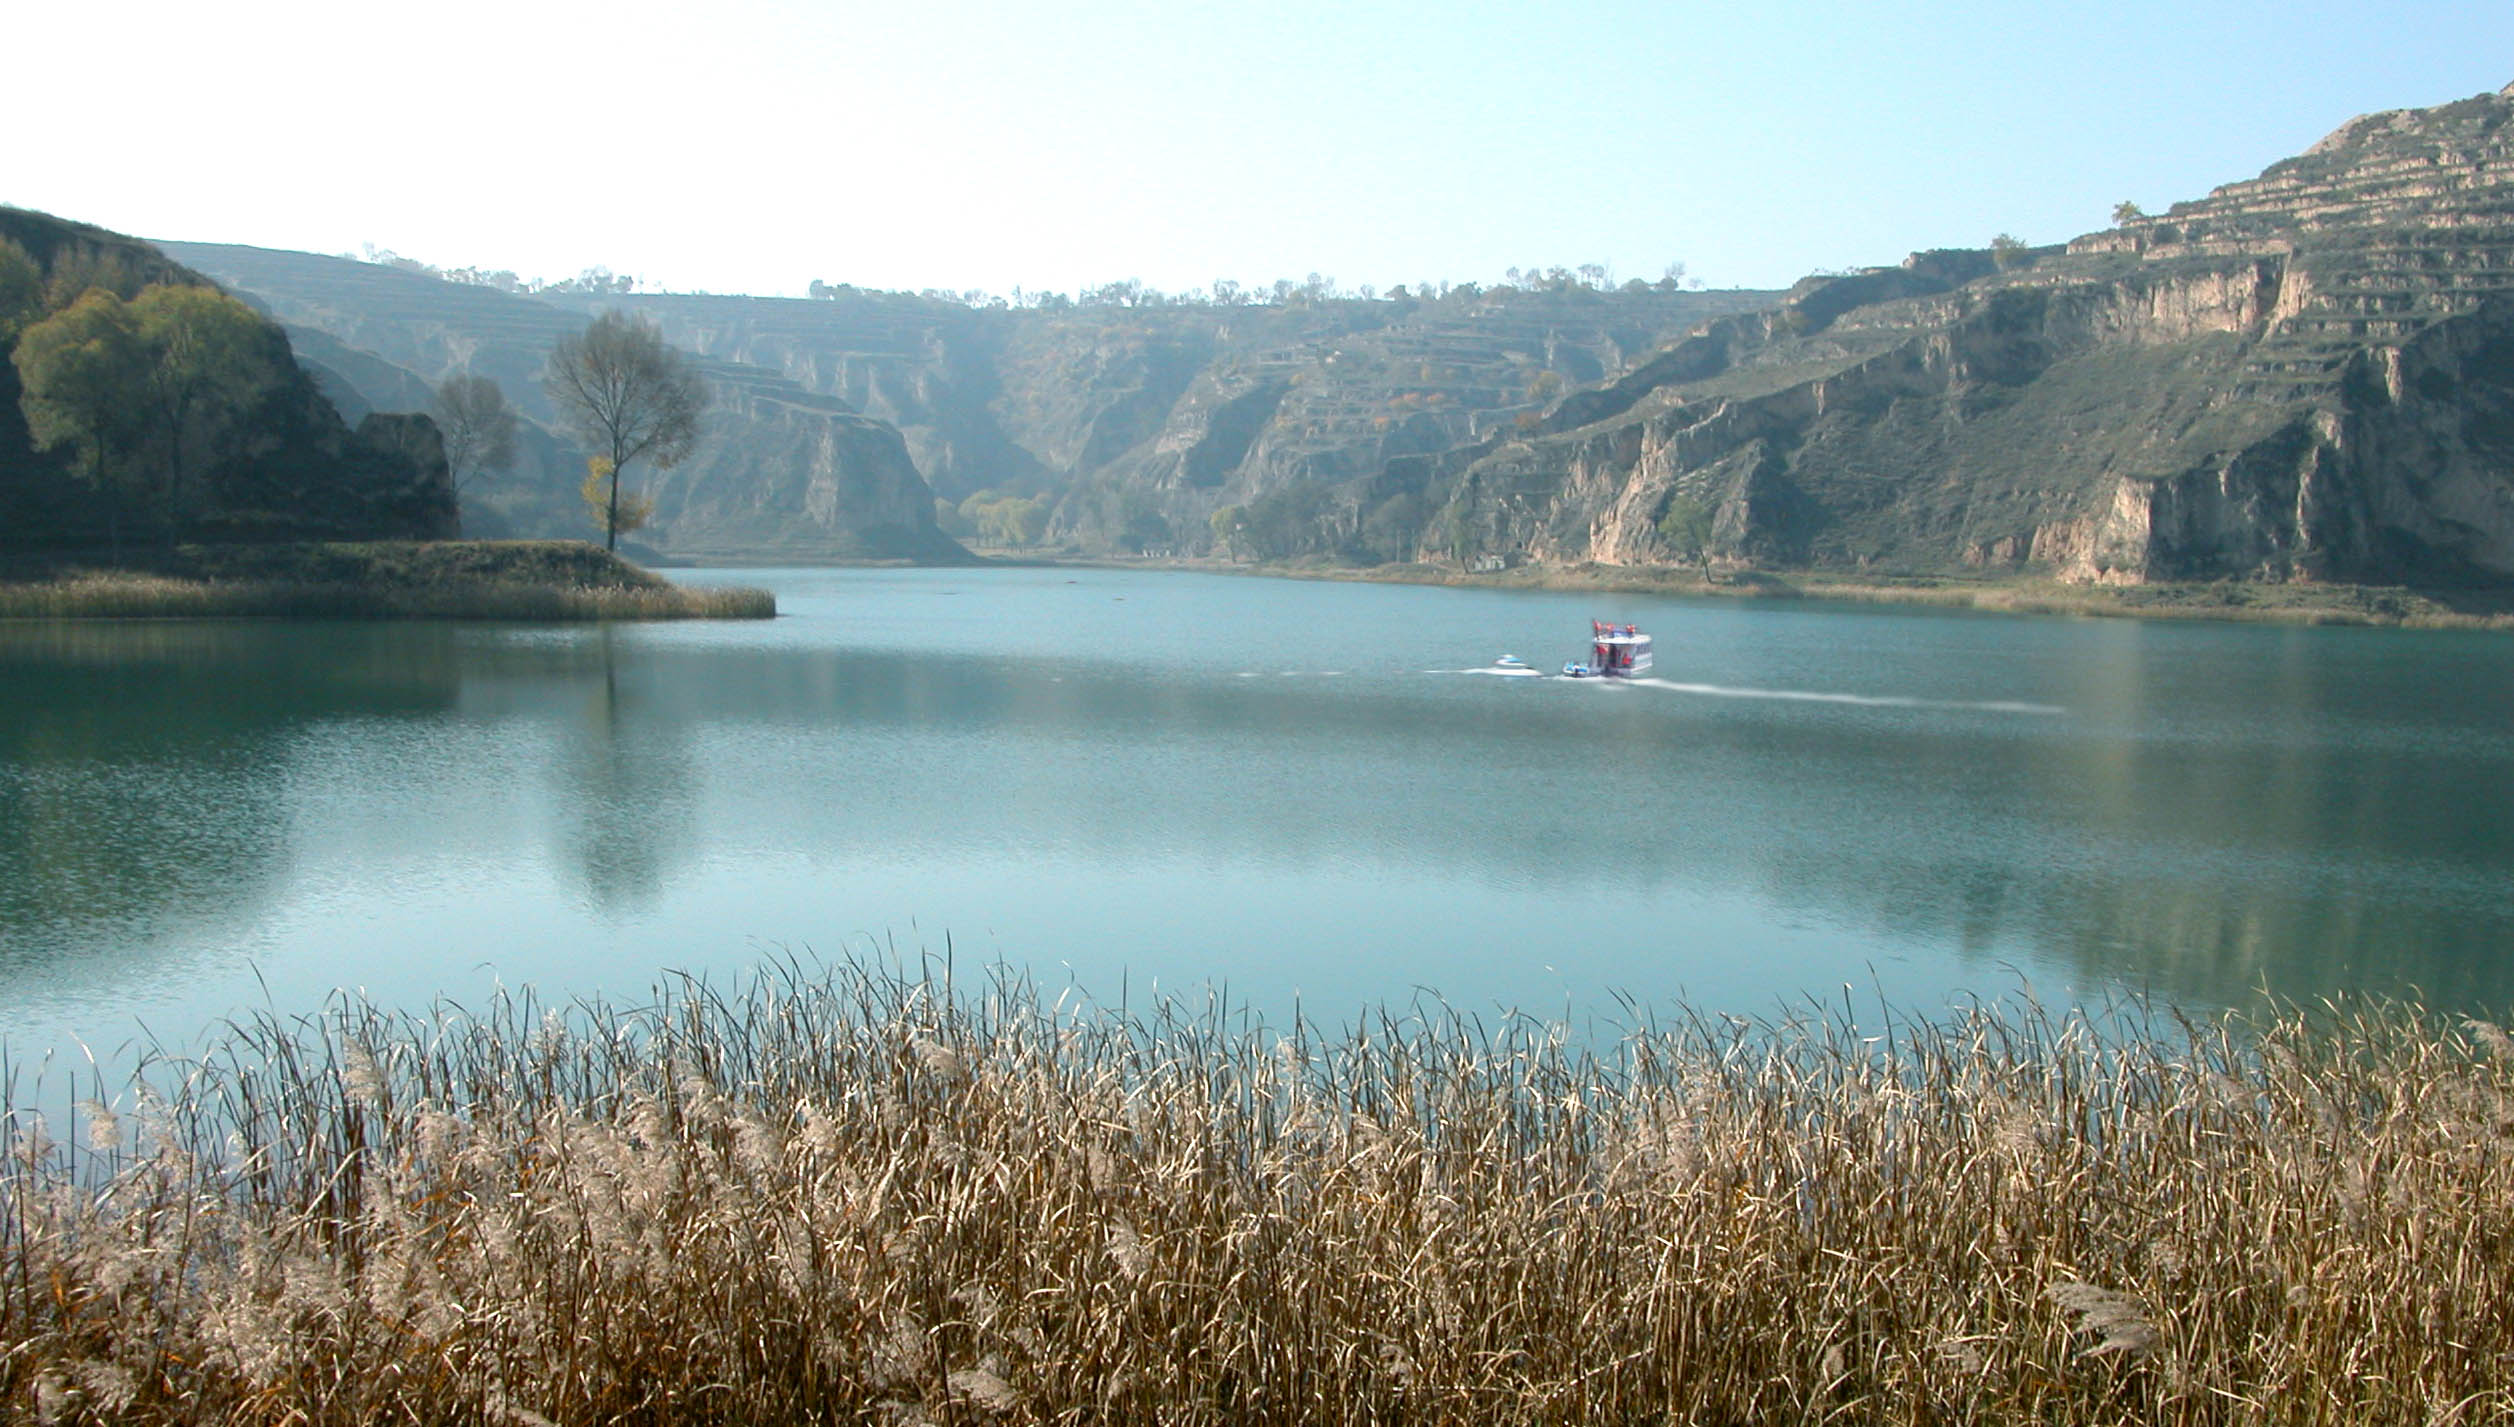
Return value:
[(2509, 118), (2368, 116), (2067, 249), (1808, 281), (1451, 452), (1438, 523), (1622, 565), (2509, 580)]

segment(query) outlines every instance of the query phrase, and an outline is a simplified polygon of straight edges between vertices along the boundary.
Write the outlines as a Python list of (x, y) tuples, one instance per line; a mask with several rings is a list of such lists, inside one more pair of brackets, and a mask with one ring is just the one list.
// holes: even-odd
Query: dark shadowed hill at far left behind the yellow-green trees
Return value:
[[(28, 327), (91, 289), (138, 312), (168, 296), (163, 289), (209, 286), (151, 244), (23, 209), (0, 209), (0, 264), (23, 274), (18, 286), (0, 281), (0, 357)], [(146, 296), (151, 289), (156, 296)], [(0, 550), (101, 550), (126, 533), (201, 540), (453, 533), (455, 492), (432, 425), (375, 412), (347, 425), (277, 327), (224, 299), (209, 301), (241, 329), (229, 362), (234, 372), (251, 369), (251, 382), (219, 384), (244, 382), (219, 374), (216, 399), (204, 394), (189, 417), (153, 435), (128, 410), (118, 412), (121, 465), (103, 482), (75, 447), (38, 447), (18, 364), (0, 359)]]

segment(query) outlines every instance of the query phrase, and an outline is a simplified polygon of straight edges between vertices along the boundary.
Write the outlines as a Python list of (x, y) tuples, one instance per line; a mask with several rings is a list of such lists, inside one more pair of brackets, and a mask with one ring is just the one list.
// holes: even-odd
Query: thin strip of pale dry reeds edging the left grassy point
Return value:
[(752, 588), (561, 585), (530, 580), (440, 580), (425, 585), (186, 580), (173, 575), (75, 575), (0, 585), (0, 618), (480, 618), (480, 621), (664, 621), (772, 618), (777, 598)]

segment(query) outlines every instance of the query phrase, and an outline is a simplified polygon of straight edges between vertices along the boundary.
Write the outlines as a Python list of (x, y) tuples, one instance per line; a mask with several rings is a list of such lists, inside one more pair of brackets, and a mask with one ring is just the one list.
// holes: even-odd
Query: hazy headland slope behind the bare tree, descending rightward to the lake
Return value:
[[(508, 472), (465, 492), (475, 535), (583, 535), (583, 452), (541, 387), (551, 347), (586, 301), (440, 281), (390, 266), (166, 244), (272, 312), (352, 407), (407, 412), (455, 369), (493, 377), (525, 417)], [(631, 467), (656, 500), (641, 540), (669, 555), (965, 560), (935, 525), (935, 497), (892, 427), (782, 372), (701, 359), (714, 392), (699, 450), (669, 472)]]

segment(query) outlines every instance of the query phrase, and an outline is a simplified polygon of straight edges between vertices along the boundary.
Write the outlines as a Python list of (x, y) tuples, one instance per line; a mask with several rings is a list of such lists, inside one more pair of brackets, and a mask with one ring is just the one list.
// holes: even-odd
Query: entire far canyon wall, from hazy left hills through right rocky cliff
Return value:
[[(1026, 497), (1076, 553), (2019, 570), (2084, 583), (2514, 578), (2514, 85), (2072, 244), (1787, 294), (1531, 284), (1267, 304), (510, 294), (168, 251), (299, 337), (347, 410), (475, 369), (556, 427), (551, 339), (649, 314), (716, 384), (651, 480), (704, 558), (955, 558)], [(817, 286), (817, 284), (815, 284)], [(558, 533), (535, 430), (468, 495)]]

